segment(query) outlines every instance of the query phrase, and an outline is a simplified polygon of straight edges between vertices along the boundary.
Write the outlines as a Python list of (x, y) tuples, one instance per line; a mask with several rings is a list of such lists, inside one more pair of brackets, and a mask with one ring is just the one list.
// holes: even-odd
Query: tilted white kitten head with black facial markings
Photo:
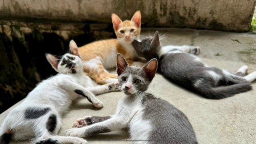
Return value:
[(83, 72), (81, 57), (78, 52), (76, 43), (71, 40), (69, 43), (70, 53), (66, 53), (59, 59), (52, 54), (46, 54), (46, 59), (52, 65), (52, 68), (59, 73), (72, 73)]

